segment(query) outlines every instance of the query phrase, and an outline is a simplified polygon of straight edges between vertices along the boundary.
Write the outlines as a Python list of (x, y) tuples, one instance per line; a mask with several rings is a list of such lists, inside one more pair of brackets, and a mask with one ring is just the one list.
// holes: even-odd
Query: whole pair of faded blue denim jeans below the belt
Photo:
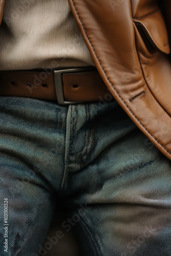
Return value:
[(81, 256), (171, 255), (170, 161), (116, 101), (0, 98), (1, 256), (46, 255), (62, 207)]

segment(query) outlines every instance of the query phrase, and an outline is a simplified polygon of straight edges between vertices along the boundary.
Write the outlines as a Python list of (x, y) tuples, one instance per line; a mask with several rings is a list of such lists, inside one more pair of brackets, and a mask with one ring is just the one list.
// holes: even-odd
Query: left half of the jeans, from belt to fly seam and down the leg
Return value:
[(66, 114), (53, 102), (1, 97), (1, 255), (43, 253), (62, 179)]

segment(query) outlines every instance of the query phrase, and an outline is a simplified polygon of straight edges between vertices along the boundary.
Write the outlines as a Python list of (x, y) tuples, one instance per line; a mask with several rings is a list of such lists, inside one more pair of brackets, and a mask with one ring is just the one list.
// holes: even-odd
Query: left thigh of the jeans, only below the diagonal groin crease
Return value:
[(0, 154), (1, 255), (37, 255), (50, 227), (54, 198), (32, 170)]

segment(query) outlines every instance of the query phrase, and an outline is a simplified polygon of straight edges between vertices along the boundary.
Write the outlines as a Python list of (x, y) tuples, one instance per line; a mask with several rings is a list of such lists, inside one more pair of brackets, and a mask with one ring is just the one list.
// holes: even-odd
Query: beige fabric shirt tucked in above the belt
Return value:
[(94, 65), (68, 0), (6, 0), (0, 70)]

